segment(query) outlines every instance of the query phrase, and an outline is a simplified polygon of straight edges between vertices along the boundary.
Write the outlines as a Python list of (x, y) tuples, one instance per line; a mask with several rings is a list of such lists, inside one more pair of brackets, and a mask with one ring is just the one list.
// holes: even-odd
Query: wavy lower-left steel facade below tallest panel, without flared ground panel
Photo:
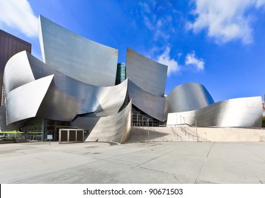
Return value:
[[(21, 64), (21, 60), (23, 60), (24, 64)], [(21, 72), (21, 78), (16, 78), (18, 72)], [(47, 78), (45, 76), (49, 75), (52, 75), (52, 81), (47, 82), (47, 85), (43, 83), (40, 86), (38, 81)], [(28, 78), (26, 78), (27, 76)], [(118, 113), (120, 107), (122, 107), (128, 86), (128, 80), (123, 81), (118, 86), (108, 87), (91, 86), (79, 82), (59, 71), (55, 71), (55, 69), (52, 69), (47, 64), (43, 64), (43, 62), (40, 62), (25, 51), (13, 56), (6, 64), (4, 82), (7, 88), (6, 106), (8, 107), (8, 124), (29, 117), (35, 117), (37, 110), (38, 117), (51, 120), (71, 121), (77, 115), (82, 114), (90, 114), (95, 117), (112, 115)], [(37, 88), (38, 86), (35, 87), (35, 84), (40, 86), (40, 89)], [(30, 88), (30, 90), (33, 90), (30, 93), (27, 91), (28, 86), (34, 86)], [(35, 93), (35, 90), (38, 92)], [(28, 99), (23, 98), (21, 95), (25, 95), (25, 97), (28, 95)], [(15, 100), (14, 97), (18, 97), (18, 99)], [(37, 100), (38, 98), (40, 98), (40, 101)], [(11, 103), (11, 101), (17, 101), (18, 106), (21, 103), (29, 102), (33, 105), (34, 103), (31, 100), (34, 100), (33, 102), (36, 103), (35, 109), (31, 111), (32, 113), (28, 112), (30, 109), (18, 107), (23, 111), (23, 113), (21, 112), (24, 116), (23, 119), (19, 116), (21, 113), (10, 106), (16, 105), (16, 103)], [(27, 107), (27, 105), (23, 106)], [(13, 118), (12, 112), (16, 114), (16, 119), (11, 119)]]

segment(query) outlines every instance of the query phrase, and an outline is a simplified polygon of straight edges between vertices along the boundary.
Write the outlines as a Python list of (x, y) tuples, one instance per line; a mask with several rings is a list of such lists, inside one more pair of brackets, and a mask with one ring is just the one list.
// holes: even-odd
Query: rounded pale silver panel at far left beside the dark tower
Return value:
[(35, 78), (30, 69), (27, 52), (23, 51), (13, 55), (6, 63), (4, 70), (5, 93), (8, 94), (13, 89), (32, 81), (35, 81)]

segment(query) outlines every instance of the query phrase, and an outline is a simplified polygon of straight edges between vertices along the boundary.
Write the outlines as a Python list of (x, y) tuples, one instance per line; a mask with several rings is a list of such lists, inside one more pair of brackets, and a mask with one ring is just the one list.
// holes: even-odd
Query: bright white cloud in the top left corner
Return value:
[(38, 17), (27, 0), (0, 0), (0, 28), (4, 25), (27, 37), (38, 37)]

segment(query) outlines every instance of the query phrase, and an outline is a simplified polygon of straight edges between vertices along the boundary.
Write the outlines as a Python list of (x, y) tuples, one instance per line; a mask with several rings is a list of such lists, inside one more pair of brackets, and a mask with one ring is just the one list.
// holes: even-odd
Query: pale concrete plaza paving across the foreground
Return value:
[(0, 144), (0, 183), (265, 183), (264, 142)]

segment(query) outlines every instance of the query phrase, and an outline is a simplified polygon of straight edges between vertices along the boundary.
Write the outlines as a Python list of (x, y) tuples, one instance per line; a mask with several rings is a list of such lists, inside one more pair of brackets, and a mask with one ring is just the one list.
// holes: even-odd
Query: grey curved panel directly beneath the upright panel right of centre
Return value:
[(133, 100), (133, 105), (155, 119), (164, 121), (164, 97), (147, 93), (130, 80), (128, 82), (128, 91), (129, 98)]

